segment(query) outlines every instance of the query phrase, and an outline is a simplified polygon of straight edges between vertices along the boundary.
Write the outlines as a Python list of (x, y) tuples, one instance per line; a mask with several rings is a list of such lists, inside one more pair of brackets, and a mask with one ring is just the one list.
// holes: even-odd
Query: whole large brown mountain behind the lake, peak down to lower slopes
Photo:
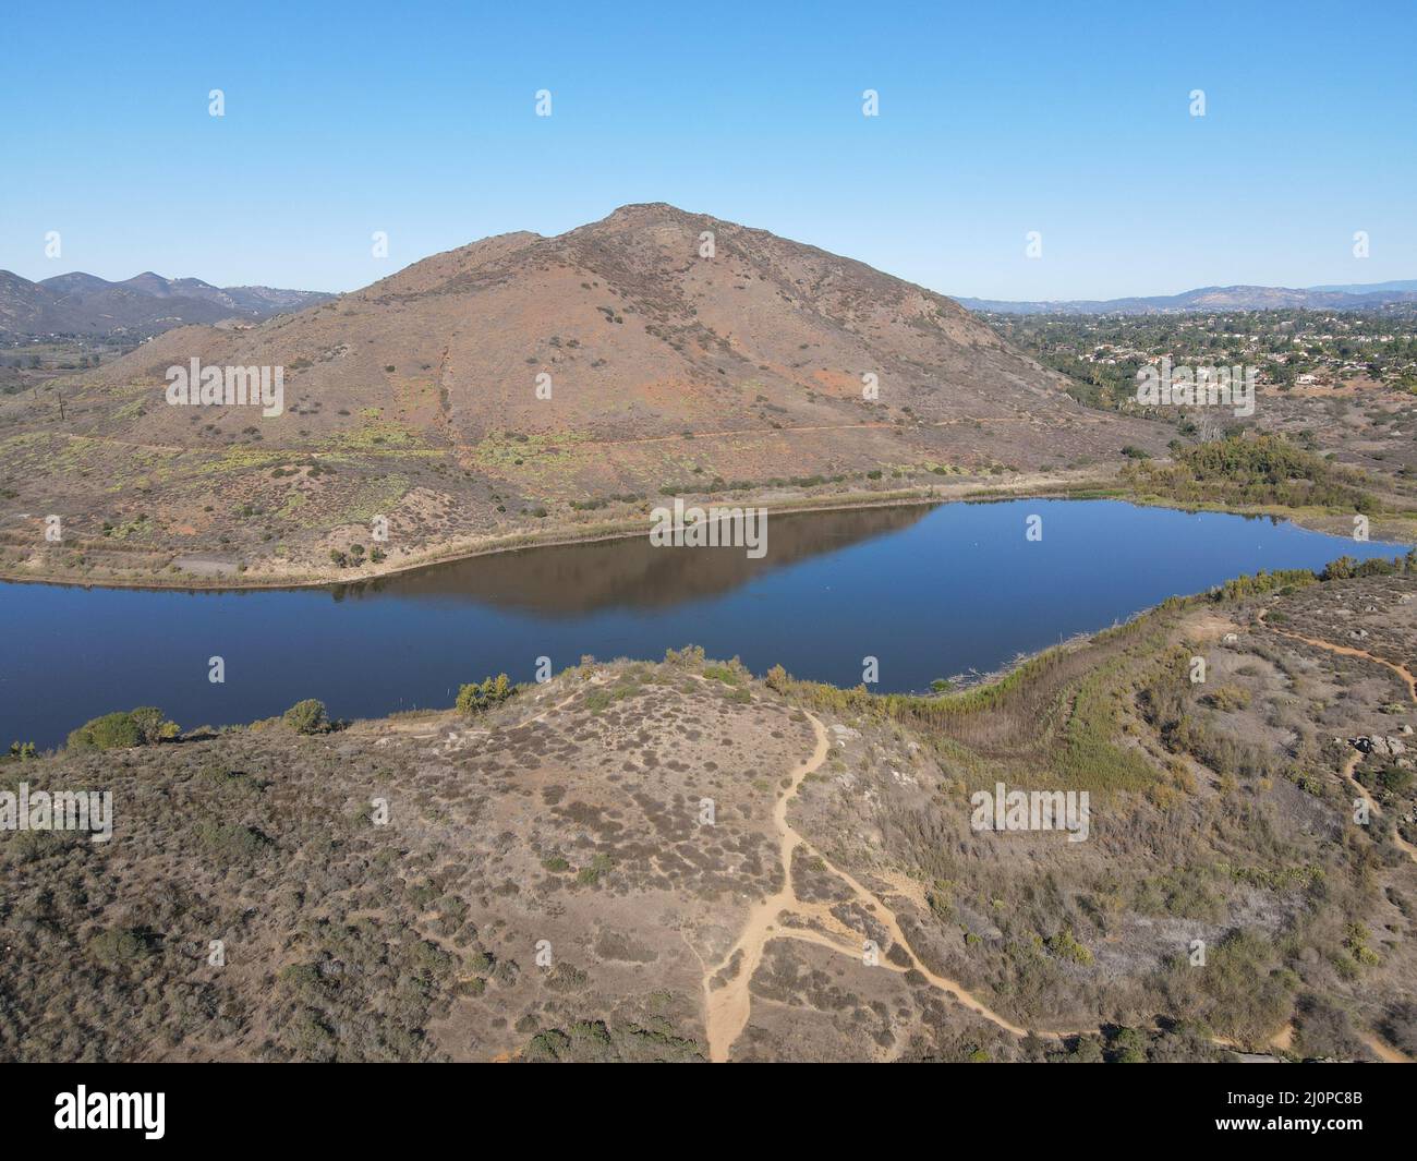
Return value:
[[(283, 369), (282, 414), (167, 405), (167, 369), (193, 359)], [(74, 534), (142, 512), (163, 568), (156, 553), (181, 546), (293, 578), (367, 547), (373, 515), (397, 566), (643, 519), (665, 495), (927, 493), (1115, 464), (1173, 434), (1067, 386), (944, 295), (642, 204), (557, 237), (485, 238), (252, 327), (167, 330), (65, 380), (62, 417), (57, 400), (0, 403), (0, 435), (27, 434), (7, 478), (20, 512), (68, 495), (85, 513)], [(86, 472), (61, 473), (48, 441), (75, 438)]]

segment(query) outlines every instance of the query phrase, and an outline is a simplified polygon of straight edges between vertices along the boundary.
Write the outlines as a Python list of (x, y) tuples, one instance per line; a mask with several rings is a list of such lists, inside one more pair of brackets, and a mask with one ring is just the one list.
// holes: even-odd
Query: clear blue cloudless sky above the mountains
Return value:
[(1417, 278), (1413, 0), (1073, 7), (11, 0), (0, 268), (340, 291), (672, 201), (959, 295)]

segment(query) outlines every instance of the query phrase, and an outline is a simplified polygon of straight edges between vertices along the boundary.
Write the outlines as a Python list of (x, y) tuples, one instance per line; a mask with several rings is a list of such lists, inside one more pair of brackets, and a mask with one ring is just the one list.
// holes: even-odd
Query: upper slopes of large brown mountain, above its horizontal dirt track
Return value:
[[(697, 254), (704, 231), (711, 259)], [(486, 238), (251, 330), (170, 332), (96, 378), (156, 381), (193, 356), (286, 367), (288, 393), (310, 410), (262, 430), (282, 445), (303, 442), (296, 427), (357, 427), (341, 408), (377, 408), (456, 445), (499, 431), (578, 442), (843, 422), (924, 438), (914, 428), (939, 421), (1093, 418), (942, 295), (659, 204), (554, 238)], [(537, 397), (540, 373), (550, 400)], [(863, 400), (863, 374), (877, 376), (877, 403)], [(149, 413), (139, 427), (169, 438), (186, 425)], [(812, 459), (825, 466), (833, 452)]]

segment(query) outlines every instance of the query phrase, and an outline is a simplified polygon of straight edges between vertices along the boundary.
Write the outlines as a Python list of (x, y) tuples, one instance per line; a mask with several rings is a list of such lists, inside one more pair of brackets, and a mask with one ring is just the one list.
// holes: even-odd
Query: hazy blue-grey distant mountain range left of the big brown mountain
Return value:
[(147, 339), (188, 323), (261, 322), (333, 298), (272, 286), (213, 286), (146, 271), (123, 282), (61, 274), (31, 282), (0, 271), (0, 340), (78, 335)]

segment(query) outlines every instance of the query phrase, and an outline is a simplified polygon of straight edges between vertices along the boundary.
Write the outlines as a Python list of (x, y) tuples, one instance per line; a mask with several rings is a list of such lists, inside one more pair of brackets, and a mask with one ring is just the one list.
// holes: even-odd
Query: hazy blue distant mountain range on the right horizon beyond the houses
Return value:
[(1003, 302), (956, 298), (968, 310), (1005, 315), (1183, 315), (1193, 310), (1372, 310), (1394, 302), (1417, 302), (1417, 279), (1369, 285), (1309, 286), (1202, 286), (1179, 295), (1155, 298), (1063, 299), (1054, 302)]

